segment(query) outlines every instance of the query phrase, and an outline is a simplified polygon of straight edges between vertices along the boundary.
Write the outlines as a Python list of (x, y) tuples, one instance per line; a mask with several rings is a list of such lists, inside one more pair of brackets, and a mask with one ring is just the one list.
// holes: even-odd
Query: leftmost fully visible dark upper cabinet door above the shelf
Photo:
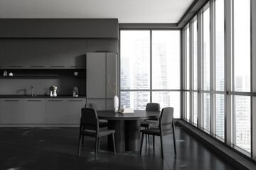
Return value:
[(6, 40), (5, 64), (9, 69), (23, 69), (26, 64), (26, 40)]

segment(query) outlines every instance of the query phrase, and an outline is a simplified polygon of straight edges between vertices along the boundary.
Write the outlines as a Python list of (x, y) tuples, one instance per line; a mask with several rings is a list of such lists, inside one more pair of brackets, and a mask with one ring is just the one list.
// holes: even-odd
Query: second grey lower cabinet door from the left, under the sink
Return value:
[(25, 99), (24, 123), (46, 123), (46, 99)]

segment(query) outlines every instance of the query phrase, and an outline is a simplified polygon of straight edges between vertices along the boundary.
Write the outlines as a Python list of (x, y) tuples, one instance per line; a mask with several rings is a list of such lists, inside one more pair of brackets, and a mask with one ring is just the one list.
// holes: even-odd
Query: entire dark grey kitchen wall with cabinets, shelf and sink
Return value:
[(79, 126), (86, 102), (112, 108), (107, 76), (116, 79), (117, 19), (0, 25), (0, 126)]

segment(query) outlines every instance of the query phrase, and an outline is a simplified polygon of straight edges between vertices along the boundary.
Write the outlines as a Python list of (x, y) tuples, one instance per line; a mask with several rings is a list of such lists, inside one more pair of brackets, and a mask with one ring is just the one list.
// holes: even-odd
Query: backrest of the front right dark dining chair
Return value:
[(174, 108), (163, 108), (160, 115), (159, 128), (161, 130), (172, 130), (174, 123)]

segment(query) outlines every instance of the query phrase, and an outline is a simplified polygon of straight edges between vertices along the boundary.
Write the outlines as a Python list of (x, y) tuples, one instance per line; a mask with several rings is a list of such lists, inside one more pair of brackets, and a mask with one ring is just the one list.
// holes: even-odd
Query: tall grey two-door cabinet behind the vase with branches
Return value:
[[(114, 93), (108, 84), (108, 76), (110, 76), (110, 85), (114, 88), (113, 85), (117, 81), (117, 54), (114, 52), (89, 52), (86, 64), (87, 102), (92, 101), (97, 106), (102, 106), (104, 103), (102, 109), (113, 106)], [(110, 98), (111, 100), (108, 100)]]

